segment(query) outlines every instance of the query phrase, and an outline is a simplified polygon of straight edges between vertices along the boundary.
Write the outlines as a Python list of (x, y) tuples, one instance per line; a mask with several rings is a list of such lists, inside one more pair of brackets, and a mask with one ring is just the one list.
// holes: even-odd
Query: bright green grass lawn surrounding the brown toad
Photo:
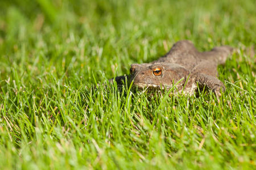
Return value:
[[(253, 0), (0, 1), (0, 169), (255, 168), (255, 30)], [(237, 48), (219, 103), (107, 83), (182, 39)]]

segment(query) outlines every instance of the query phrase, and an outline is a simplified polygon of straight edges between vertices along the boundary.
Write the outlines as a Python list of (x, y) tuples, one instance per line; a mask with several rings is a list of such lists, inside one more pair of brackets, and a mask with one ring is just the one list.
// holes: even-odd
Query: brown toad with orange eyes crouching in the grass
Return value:
[[(224, 84), (217, 79), (217, 65), (224, 64), (232, 54), (230, 46), (218, 46), (208, 52), (199, 52), (191, 41), (178, 41), (170, 52), (150, 63), (132, 64), (130, 75), (127, 76), (133, 86), (139, 88), (171, 88), (176, 85), (176, 92), (183, 91), (192, 95), (199, 87), (207, 87), (216, 95), (225, 91)], [(115, 78), (122, 84), (126, 76)]]

